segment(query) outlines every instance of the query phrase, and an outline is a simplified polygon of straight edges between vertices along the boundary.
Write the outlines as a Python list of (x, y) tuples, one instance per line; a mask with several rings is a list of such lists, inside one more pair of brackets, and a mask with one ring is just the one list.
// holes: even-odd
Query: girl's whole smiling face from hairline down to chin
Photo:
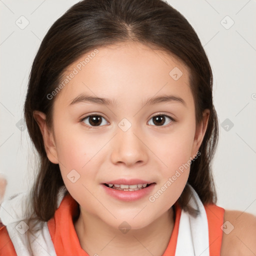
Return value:
[[(53, 130), (44, 136), (47, 155), (59, 164), (84, 213), (113, 228), (122, 221), (142, 228), (178, 199), (203, 138), (189, 71), (138, 42), (91, 52), (69, 66), (68, 83), (49, 99), (54, 106)], [(134, 191), (104, 185), (144, 182), (150, 185)]]

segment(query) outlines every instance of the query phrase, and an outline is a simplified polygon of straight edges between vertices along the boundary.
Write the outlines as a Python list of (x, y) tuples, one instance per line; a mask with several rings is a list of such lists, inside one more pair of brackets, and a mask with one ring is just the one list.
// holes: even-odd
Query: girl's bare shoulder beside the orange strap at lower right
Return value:
[(256, 216), (225, 209), (220, 256), (256, 255)]

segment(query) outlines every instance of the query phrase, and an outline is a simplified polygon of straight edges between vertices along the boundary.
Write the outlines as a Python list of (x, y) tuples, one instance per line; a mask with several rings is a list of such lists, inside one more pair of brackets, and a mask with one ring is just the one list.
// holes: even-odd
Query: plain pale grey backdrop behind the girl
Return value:
[[(8, 181), (5, 198), (26, 190), (36, 169), (27, 129), (22, 128), (32, 60), (52, 23), (76, 2), (0, 0), (0, 172)], [(213, 70), (220, 125), (213, 162), (217, 205), (256, 214), (256, 2), (168, 2), (194, 27)]]

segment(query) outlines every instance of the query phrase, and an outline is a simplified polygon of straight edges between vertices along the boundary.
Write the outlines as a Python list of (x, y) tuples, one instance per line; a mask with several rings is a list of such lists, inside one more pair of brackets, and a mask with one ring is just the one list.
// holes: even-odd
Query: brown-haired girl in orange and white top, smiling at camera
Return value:
[(212, 73), (161, 0), (83, 0), (49, 29), (24, 114), (34, 186), (0, 207), (1, 255), (255, 255), (216, 205)]

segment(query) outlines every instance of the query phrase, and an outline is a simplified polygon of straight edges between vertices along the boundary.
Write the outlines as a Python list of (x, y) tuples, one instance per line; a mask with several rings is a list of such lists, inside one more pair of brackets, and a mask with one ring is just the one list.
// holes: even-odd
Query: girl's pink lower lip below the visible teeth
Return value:
[(149, 186), (144, 187), (142, 189), (136, 191), (122, 191), (114, 188), (110, 188), (101, 184), (105, 192), (112, 197), (121, 200), (121, 201), (135, 201), (138, 200), (146, 195), (148, 195), (152, 189), (154, 188), (155, 183), (151, 183)]

